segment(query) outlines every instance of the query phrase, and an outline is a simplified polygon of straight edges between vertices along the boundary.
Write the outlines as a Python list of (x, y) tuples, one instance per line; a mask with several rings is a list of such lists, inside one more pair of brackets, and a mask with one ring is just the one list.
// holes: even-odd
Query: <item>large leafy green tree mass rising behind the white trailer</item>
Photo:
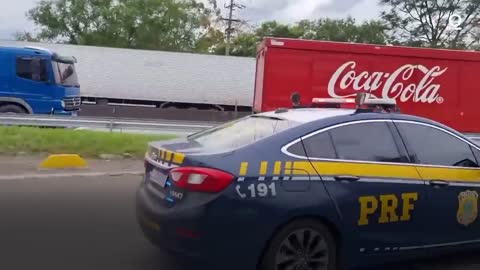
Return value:
[(28, 17), (40, 27), (41, 40), (193, 51), (215, 13), (215, 1), (209, 4), (195, 0), (43, 0)]

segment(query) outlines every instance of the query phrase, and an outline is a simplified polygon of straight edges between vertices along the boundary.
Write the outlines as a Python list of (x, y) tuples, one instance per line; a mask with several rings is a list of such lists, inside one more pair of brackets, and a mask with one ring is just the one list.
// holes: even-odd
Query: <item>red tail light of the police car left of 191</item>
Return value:
[(199, 192), (220, 192), (228, 187), (235, 176), (210, 168), (180, 167), (170, 171), (175, 186)]

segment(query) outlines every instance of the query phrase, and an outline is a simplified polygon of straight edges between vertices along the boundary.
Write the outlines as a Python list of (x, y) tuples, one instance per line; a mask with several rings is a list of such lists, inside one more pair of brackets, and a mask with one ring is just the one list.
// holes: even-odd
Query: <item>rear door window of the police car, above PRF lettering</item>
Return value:
[(330, 130), (339, 159), (406, 162), (385, 122), (351, 124)]

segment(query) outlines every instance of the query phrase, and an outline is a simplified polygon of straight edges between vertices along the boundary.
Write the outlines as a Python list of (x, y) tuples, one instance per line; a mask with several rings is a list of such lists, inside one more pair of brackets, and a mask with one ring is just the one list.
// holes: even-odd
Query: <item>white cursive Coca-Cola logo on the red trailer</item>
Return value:
[[(392, 73), (356, 71), (355, 61), (341, 65), (330, 78), (328, 94), (332, 98), (353, 97), (356, 94), (339, 94), (340, 90), (353, 89), (370, 93), (374, 98), (390, 98), (401, 102), (443, 103), (440, 96), (440, 84), (434, 83), (448, 68), (434, 66), (430, 69), (423, 65), (404, 65)], [(409, 83), (413, 75), (420, 72), (418, 83)], [(378, 94), (377, 94), (378, 93)]]

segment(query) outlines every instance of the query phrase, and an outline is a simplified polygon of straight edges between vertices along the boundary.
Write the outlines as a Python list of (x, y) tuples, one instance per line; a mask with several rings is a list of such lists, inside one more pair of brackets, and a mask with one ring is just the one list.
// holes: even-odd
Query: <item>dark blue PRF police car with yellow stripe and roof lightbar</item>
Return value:
[(314, 101), (151, 143), (136, 202), (145, 236), (242, 270), (357, 269), (480, 246), (479, 146), (391, 100)]

